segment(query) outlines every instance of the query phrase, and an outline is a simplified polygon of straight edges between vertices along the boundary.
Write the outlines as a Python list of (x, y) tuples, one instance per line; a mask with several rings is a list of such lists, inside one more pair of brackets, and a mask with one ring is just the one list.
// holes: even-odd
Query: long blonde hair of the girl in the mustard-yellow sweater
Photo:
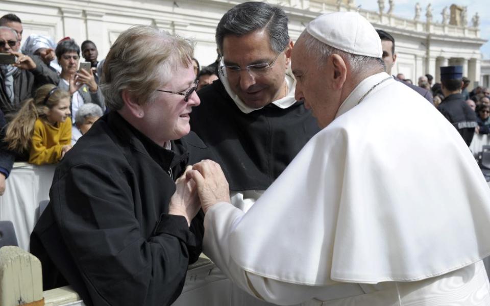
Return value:
[(45, 118), (49, 109), (57, 106), (62, 98), (69, 97), (67, 91), (55, 85), (46, 84), (39, 87), (34, 98), (25, 100), (22, 108), (8, 124), (5, 136), (8, 149), (18, 153), (28, 150), (37, 118)]

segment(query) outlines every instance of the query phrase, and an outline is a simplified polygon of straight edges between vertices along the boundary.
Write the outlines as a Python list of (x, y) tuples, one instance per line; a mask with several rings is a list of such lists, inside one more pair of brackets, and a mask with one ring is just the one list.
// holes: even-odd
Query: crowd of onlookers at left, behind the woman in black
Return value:
[[(15, 14), (0, 18), (0, 53), (15, 56), (0, 64), (0, 194), (14, 161), (58, 163), (108, 111), (99, 88), (104, 60), (98, 60), (95, 43), (85, 40), (79, 46), (65, 37), (56, 44), (37, 34), (22, 43), (22, 33)], [(194, 58), (192, 63), (198, 90), (217, 79), (215, 67), (201, 69)], [(55, 110), (63, 112), (56, 120), (51, 117)]]

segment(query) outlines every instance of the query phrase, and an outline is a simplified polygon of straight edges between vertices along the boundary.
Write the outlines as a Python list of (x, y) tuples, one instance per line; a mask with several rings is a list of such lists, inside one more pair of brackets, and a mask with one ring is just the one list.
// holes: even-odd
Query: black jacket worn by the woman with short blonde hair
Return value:
[(179, 296), (201, 252), (203, 214), (189, 230), (168, 204), (185, 166), (210, 156), (193, 133), (172, 148), (111, 112), (66, 154), (31, 235), (44, 290), (68, 283), (87, 305), (160, 306)]

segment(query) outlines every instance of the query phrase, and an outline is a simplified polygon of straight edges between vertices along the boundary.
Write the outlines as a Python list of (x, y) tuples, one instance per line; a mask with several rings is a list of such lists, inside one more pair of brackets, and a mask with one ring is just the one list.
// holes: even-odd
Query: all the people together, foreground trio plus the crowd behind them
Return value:
[(356, 12), (295, 44), (282, 8), (245, 2), (215, 38), (201, 67), (192, 41), (135, 25), (98, 61), (69, 37), (20, 52), (20, 19), (0, 18), (0, 172), (59, 163), (31, 235), (44, 290), (170, 305), (204, 251), (276, 304), (490, 303), (490, 189), (467, 147), (488, 89), (460, 66), (394, 77), (395, 39)]

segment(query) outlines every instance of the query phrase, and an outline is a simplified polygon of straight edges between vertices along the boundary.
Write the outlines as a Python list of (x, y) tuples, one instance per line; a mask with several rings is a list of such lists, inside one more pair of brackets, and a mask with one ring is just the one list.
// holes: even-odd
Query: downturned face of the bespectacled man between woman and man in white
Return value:
[[(258, 30), (242, 36), (228, 35), (223, 40), (223, 60), (225, 65), (239, 66), (241, 71), (227, 70), (231, 89), (246, 105), (263, 107), (286, 95), (285, 73), (289, 64), (292, 44), (285, 52), (276, 53), (269, 43), (269, 35)], [(274, 59), (277, 56), (276, 62)], [(247, 71), (254, 64), (273, 63), (271, 68), (260, 74)], [(230, 73), (231, 72), (231, 73)]]

